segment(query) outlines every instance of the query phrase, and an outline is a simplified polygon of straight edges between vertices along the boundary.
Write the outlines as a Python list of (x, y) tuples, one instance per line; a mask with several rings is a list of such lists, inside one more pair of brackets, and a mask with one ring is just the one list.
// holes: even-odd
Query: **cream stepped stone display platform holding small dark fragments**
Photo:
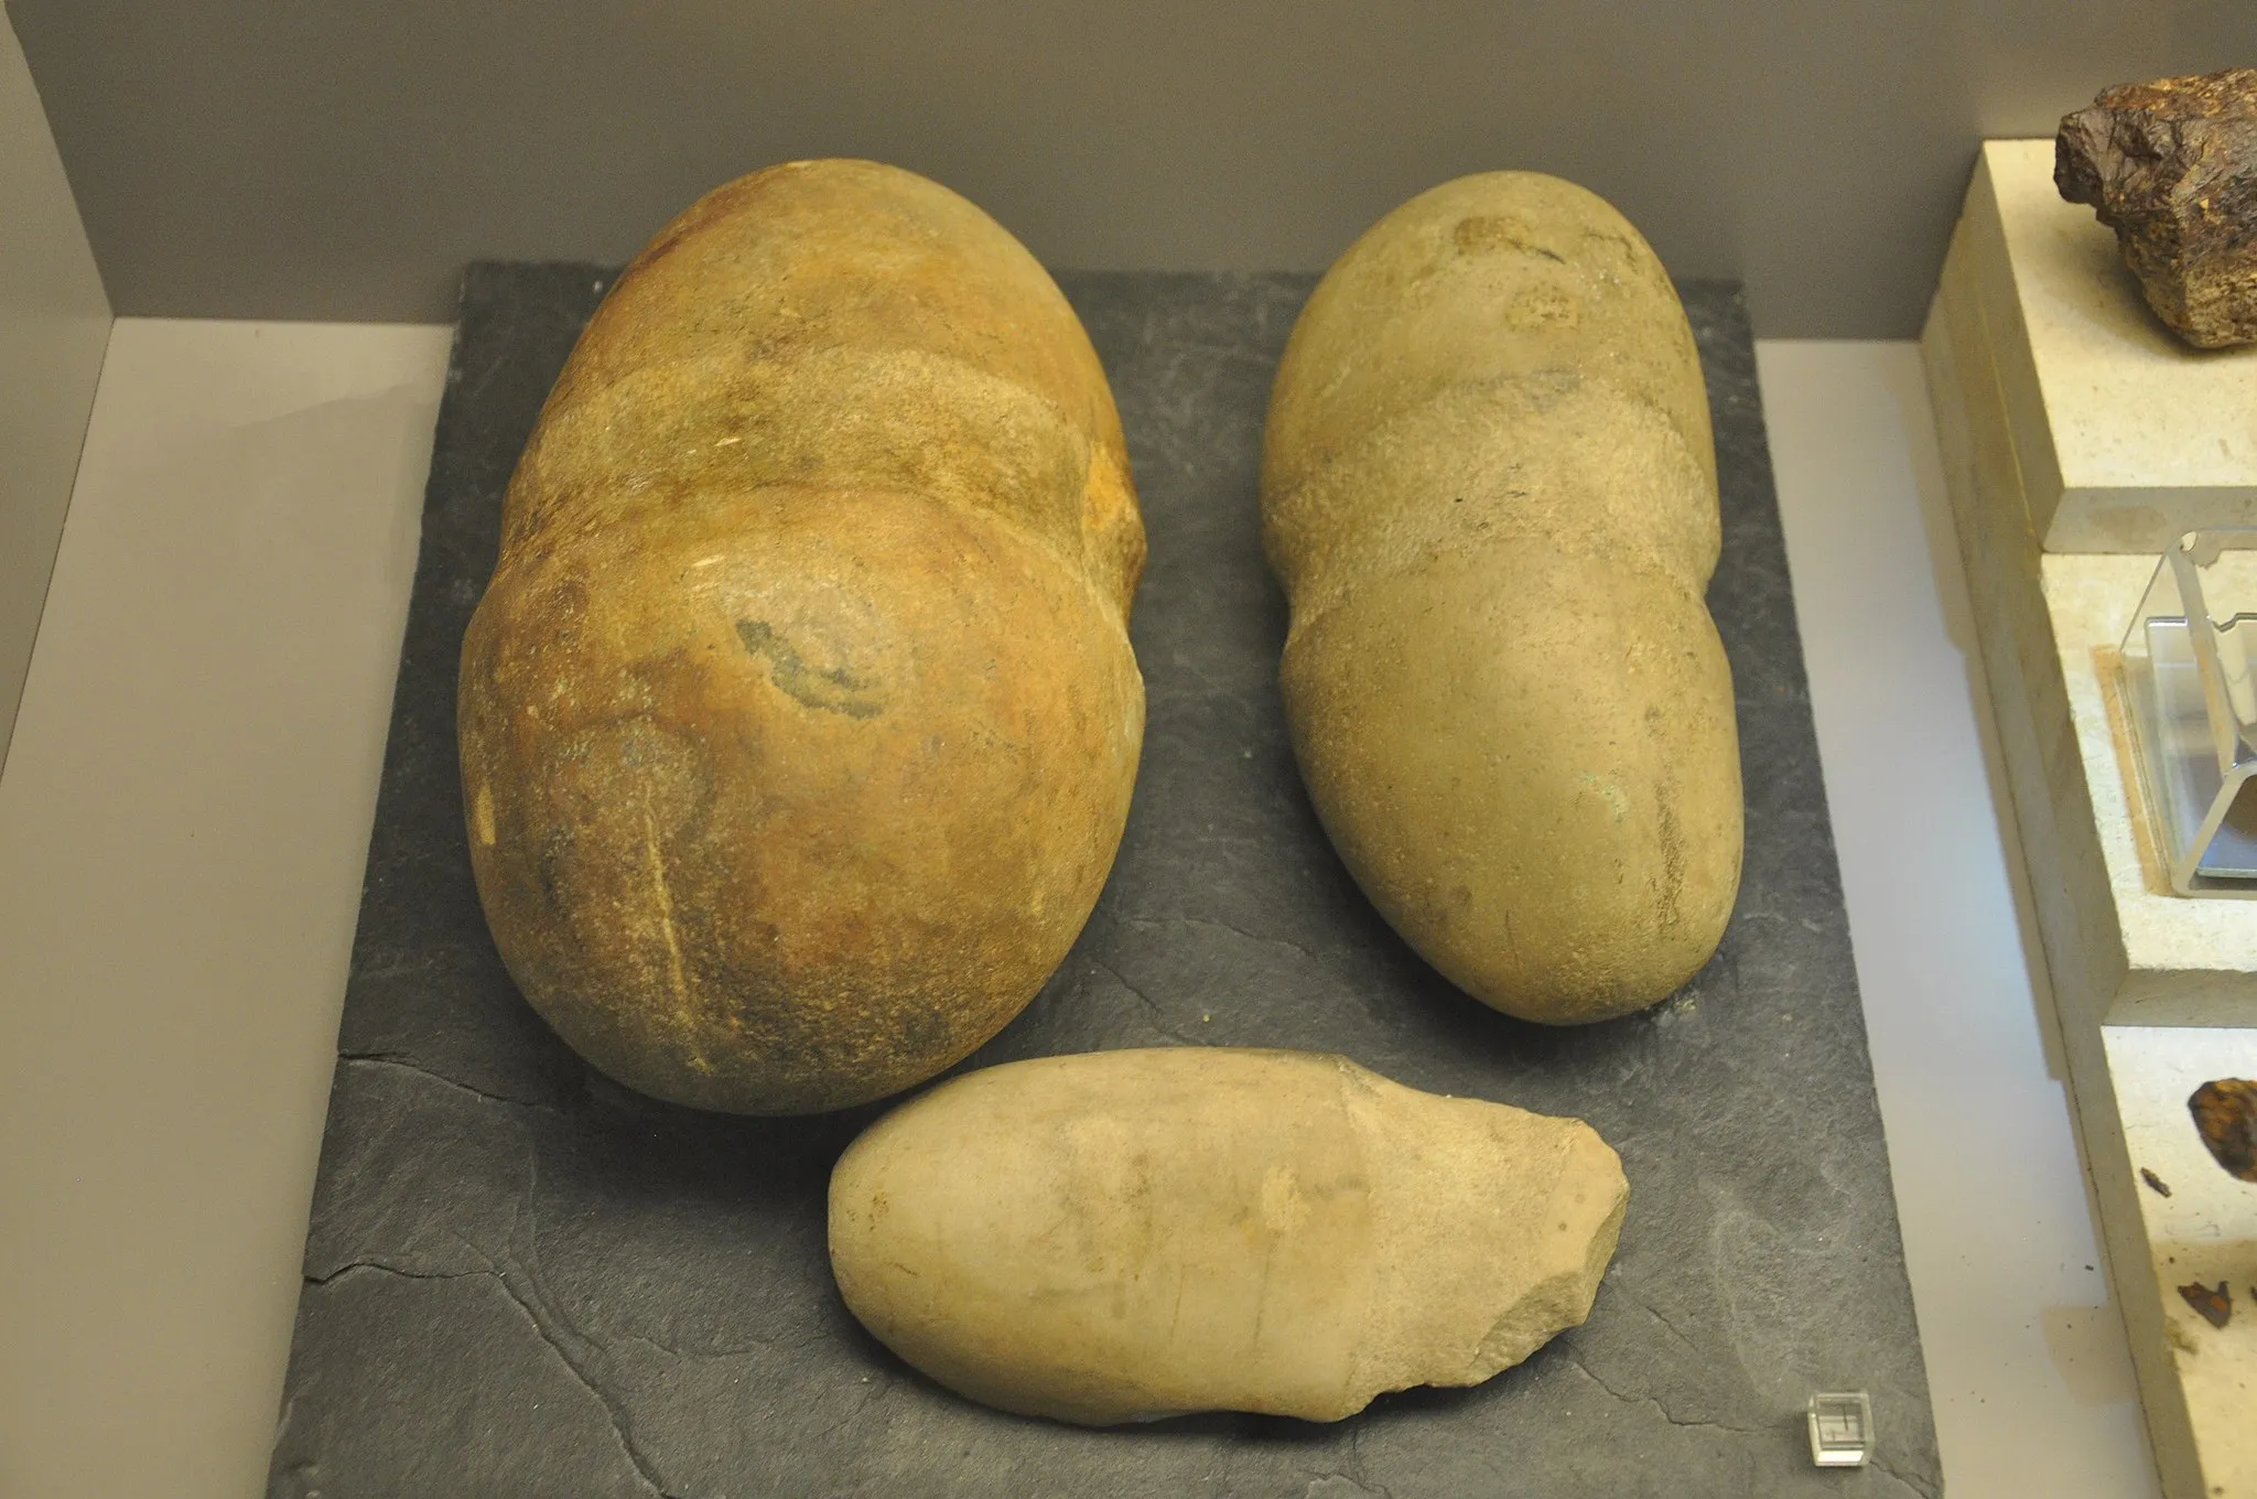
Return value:
[[(2153, 549), (2250, 519), (2257, 350), (2178, 345), (2113, 255), (2090, 210), (2054, 194), (2049, 142), (1986, 142), (1921, 354), (2149, 1452), (2167, 1499), (2257, 1499), (2257, 1341), (2239, 1325), (2257, 1291), (2230, 1327), (2178, 1291), (2196, 1273), (2257, 1285), (2257, 1190), (2203, 1158), (2187, 1115), (2201, 1081), (2257, 1057), (2257, 901), (2171, 894), (2110, 707)], [(2187, 413), (2212, 433), (2192, 454), (2173, 427)], [(2061, 488), (2101, 456), (2106, 494)]]

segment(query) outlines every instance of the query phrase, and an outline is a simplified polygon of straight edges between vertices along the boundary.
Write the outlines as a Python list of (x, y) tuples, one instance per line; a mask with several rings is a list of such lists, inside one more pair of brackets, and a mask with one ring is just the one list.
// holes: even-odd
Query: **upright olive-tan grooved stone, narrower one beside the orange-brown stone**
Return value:
[(1639, 233), (1528, 172), (1390, 212), (1293, 327), (1262, 510), (1293, 750), (1395, 930), (1530, 1020), (1690, 978), (1740, 765), (1700, 357)]

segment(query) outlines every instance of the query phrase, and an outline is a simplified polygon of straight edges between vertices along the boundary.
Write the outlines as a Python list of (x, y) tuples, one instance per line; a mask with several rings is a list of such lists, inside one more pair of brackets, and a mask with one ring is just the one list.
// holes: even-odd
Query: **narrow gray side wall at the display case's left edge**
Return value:
[(108, 341), (102, 278), (0, 11), (0, 765)]

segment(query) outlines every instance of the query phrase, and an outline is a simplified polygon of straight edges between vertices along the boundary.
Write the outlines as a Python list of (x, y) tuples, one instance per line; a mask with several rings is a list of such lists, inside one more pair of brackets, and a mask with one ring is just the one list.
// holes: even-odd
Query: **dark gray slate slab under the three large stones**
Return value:
[[(591, 1075), (494, 957), (463, 847), (454, 661), (499, 501), (591, 266), (463, 298), (273, 1458), (293, 1499), (1937, 1494), (1937, 1445), (1819, 783), (1754, 352), (1693, 287), (1724, 474), (1711, 603), (1747, 765), (1715, 962), (1609, 1025), (1519, 1025), (1372, 914), (1293, 772), (1262, 567), (1262, 409), (1302, 275), (1068, 275), (1113, 372), (1151, 567), (1151, 718), (1104, 901), (968, 1066), (1117, 1045), (1334, 1050), (1591, 1120), (1630, 1219), (1589, 1325), (1474, 1391), (1336, 1427), (1081, 1431), (957, 1400), (833, 1291), (824, 1183), (873, 1108), (729, 1120)], [(1817, 1472), (1815, 1388), (1869, 1388), (1880, 1465)]]

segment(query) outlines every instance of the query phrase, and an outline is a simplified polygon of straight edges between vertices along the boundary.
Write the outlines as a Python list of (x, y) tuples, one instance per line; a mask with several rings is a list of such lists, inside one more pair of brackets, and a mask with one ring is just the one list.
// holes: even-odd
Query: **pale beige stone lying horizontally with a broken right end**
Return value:
[(831, 1176), (831, 1269), (887, 1348), (1007, 1411), (1341, 1420), (1582, 1323), (1627, 1196), (1589, 1124), (1345, 1057), (1095, 1052), (878, 1120)]

